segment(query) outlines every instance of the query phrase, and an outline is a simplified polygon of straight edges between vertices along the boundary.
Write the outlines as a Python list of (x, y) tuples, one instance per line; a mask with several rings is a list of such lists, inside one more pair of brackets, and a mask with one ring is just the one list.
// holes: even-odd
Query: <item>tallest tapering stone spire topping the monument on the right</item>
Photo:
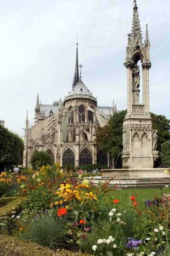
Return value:
[(140, 27), (139, 22), (139, 13), (138, 13), (138, 7), (136, 4), (136, 0), (133, 1), (134, 7), (133, 7), (133, 22), (132, 22), (132, 46), (136, 43), (137, 38), (140, 39), (142, 43), (142, 31)]

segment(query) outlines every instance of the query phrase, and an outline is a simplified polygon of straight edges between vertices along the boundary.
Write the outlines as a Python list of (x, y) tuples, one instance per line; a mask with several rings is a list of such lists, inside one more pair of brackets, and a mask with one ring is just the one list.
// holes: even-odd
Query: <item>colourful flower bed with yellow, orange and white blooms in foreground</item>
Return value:
[[(143, 208), (137, 195), (130, 195), (130, 204), (123, 206), (116, 186), (109, 186), (114, 177), (94, 186), (93, 179), (74, 176), (58, 164), (36, 172), (23, 170), (21, 177), (12, 179), (11, 174), (3, 174), (5, 181), (0, 182), (8, 180), (10, 193), (22, 196), (18, 200), (23, 201), (23, 210), (11, 212), (2, 225), (4, 232), (56, 253), (69, 248), (96, 256), (170, 255), (169, 194), (146, 200)], [(1, 209), (9, 212), (9, 208)]]

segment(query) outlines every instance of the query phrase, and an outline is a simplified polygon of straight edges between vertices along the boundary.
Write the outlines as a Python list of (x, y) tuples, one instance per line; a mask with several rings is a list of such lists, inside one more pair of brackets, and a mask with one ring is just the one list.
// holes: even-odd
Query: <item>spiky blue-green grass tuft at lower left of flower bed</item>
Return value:
[(65, 224), (63, 218), (45, 214), (43, 218), (37, 217), (37, 219), (34, 219), (24, 237), (43, 247), (61, 248), (66, 245), (67, 240), (63, 232)]

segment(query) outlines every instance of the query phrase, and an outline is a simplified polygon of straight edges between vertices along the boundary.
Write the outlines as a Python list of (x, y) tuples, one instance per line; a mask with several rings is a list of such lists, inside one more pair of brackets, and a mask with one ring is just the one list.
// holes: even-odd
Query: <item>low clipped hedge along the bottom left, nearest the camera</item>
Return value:
[(91, 256), (88, 253), (73, 253), (67, 250), (54, 252), (47, 247), (11, 236), (0, 235), (0, 256)]

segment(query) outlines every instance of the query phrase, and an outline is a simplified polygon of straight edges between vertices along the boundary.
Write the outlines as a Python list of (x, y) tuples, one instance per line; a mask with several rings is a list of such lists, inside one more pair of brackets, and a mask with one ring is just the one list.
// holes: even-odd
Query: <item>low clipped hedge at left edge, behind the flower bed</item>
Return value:
[[(11, 214), (11, 211), (13, 211), (14, 208), (19, 208), (23, 201), (26, 200), (26, 197), (11, 197), (10, 199), (13, 200), (9, 201), (8, 204), (0, 208), (0, 217), (4, 216), (4, 213), (6, 213), (6, 215)], [(8, 201), (9, 198), (0, 198), (0, 201), (2, 202), (5, 200)]]

